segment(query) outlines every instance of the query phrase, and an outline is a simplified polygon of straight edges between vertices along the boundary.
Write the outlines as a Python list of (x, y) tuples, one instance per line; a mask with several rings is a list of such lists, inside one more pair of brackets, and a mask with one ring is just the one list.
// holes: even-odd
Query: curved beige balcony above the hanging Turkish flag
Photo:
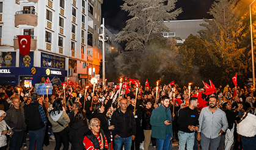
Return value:
[(21, 10), (15, 13), (15, 27), (20, 24), (27, 26), (37, 26), (37, 12), (31, 10)]

